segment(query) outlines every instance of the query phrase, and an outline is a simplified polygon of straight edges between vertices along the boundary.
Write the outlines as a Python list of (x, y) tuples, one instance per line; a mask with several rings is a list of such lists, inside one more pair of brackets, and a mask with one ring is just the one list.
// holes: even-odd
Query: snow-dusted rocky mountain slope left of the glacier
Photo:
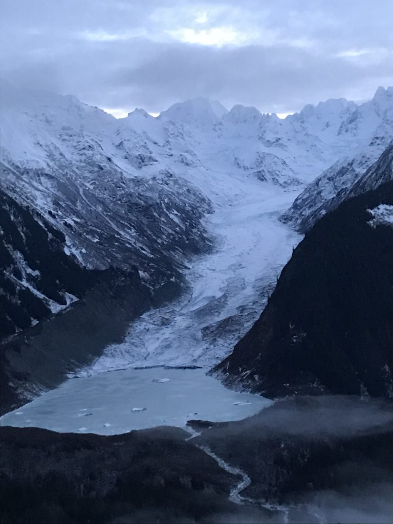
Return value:
[(209, 199), (159, 163), (130, 126), (74, 97), (8, 88), (2, 188), (56, 225), (82, 264), (170, 273), (182, 254), (209, 247), (200, 223)]

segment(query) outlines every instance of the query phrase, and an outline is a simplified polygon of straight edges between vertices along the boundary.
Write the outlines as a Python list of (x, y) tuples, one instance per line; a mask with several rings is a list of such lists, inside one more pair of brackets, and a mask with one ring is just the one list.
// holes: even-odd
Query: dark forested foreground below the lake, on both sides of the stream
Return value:
[(391, 402), (297, 396), (244, 420), (189, 425), (201, 433), (191, 440), (170, 427), (0, 428), (2, 524), (390, 522)]

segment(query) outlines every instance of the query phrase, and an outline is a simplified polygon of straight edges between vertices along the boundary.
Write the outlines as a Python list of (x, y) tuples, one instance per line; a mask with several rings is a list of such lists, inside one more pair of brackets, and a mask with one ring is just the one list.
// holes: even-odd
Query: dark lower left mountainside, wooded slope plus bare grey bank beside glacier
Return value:
[(177, 280), (151, 290), (135, 266), (83, 267), (62, 232), (0, 190), (0, 411), (122, 341), (136, 316), (180, 293), (172, 271)]

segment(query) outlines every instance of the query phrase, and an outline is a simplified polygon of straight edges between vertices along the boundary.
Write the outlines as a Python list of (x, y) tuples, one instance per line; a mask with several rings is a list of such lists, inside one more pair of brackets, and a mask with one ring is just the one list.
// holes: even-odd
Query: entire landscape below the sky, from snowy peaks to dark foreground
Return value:
[(392, 88), (285, 119), (0, 94), (10, 518), (388, 522)]

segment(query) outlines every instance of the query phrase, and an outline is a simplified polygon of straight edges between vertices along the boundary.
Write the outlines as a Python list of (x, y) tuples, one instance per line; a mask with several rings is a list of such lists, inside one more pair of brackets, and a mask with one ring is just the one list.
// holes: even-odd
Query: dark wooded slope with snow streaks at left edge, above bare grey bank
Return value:
[(0, 190), (0, 341), (80, 299), (100, 271), (64, 253), (65, 236)]

